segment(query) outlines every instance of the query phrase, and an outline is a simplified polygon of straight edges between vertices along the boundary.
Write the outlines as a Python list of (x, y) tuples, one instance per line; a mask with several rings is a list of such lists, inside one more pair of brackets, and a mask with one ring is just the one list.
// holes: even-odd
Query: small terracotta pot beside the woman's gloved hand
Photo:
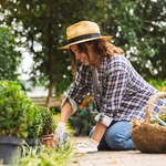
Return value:
[(54, 148), (54, 134), (43, 135), (42, 145), (45, 145), (49, 148)]

